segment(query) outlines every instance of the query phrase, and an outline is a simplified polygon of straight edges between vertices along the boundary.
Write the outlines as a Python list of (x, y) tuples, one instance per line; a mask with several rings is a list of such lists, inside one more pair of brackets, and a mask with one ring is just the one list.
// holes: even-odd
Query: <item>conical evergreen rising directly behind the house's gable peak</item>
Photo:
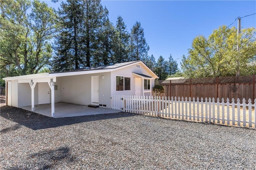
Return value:
[(140, 22), (136, 22), (131, 30), (130, 52), (131, 60), (142, 60), (148, 56), (149, 46), (144, 38), (144, 30)]

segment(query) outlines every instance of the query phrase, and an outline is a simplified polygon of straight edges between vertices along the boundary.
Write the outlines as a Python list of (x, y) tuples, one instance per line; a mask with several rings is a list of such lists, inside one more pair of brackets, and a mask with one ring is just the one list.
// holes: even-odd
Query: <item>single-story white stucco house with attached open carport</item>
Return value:
[(64, 102), (111, 108), (111, 95), (151, 95), (158, 76), (142, 61), (131, 61), (74, 71), (3, 78), (8, 106), (24, 107)]

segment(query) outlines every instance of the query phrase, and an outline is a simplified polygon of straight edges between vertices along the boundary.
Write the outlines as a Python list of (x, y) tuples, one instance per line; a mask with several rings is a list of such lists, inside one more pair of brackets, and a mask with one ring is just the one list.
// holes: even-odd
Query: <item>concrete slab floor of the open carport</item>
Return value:
[[(21, 108), (31, 111), (31, 106), (26, 106)], [(44, 116), (52, 117), (51, 104), (35, 105), (34, 112)], [(59, 103), (55, 103), (54, 118), (100, 115), (100, 114), (118, 113), (118, 112), (120, 111), (113, 110), (113, 109), (105, 109), (101, 107), (93, 108), (85, 105), (75, 105), (71, 103), (59, 102)]]

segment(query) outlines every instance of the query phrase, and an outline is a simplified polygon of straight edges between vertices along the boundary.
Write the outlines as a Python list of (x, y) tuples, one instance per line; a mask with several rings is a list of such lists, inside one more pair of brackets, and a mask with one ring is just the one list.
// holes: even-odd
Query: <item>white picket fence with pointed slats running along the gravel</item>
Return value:
[(227, 98), (226, 103), (222, 98), (215, 101), (214, 98), (190, 97), (156, 97), (156, 96), (132, 96), (132, 95), (112, 95), (112, 109), (129, 113), (138, 113), (150, 116), (164, 117), (169, 119), (183, 119), (189, 121), (199, 121), (208, 123), (218, 123), (223, 125), (237, 125), (256, 128), (256, 99), (252, 104), (251, 99)]

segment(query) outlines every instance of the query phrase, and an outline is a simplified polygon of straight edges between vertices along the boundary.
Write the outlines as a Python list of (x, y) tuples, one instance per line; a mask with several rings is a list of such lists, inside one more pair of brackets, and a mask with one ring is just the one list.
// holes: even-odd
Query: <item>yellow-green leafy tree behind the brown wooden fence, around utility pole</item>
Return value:
[(240, 75), (255, 73), (248, 63), (255, 61), (256, 29), (243, 29), (237, 36), (235, 27), (221, 26), (208, 38), (197, 36), (188, 52), (181, 63), (186, 77), (234, 76), (238, 70), (237, 61), (240, 62)]

